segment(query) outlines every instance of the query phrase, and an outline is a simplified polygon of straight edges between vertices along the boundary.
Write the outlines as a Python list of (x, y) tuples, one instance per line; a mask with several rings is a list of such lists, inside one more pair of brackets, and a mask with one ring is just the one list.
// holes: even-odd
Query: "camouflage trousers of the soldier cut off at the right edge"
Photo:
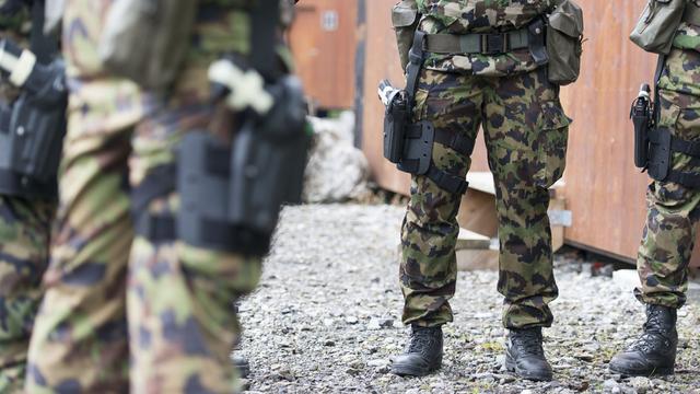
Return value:
[[(660, 126), (684, 140), (700, 141), (700, 54), (675, 49), (660, 83)], [(674, 153), (672, 169), (700, 174), (700, 163)], [(646, 192), (646, 223), (637, 268), (643, 303), (680, 308), (686, 303), (688, 267), (700, 219), (700, 190), (653, 182)]]

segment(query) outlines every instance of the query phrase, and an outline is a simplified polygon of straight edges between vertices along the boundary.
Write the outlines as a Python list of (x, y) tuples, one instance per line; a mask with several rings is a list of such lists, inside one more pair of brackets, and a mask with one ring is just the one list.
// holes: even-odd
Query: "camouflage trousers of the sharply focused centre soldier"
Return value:
[[(416, 117), (435, 129), (476, 139), (483, 126), (495, 182), (500, 277), (508, 328), (549, 326), (549, 302), (558, 296), (552, 273), (548, 188), (565, 165), (569, 118), (559, 90), (540, 69), (508, 78), (424, 70), (416, 95)], [(470, 158), (435, 143), (433, 165), (466, 176)], [(401, 231), (400, 283), (404, 323), (435, 326), (452, 322), (450, 300), (457, 267), (456, 221), (462, 196), (425, 176), (413, 176)]]

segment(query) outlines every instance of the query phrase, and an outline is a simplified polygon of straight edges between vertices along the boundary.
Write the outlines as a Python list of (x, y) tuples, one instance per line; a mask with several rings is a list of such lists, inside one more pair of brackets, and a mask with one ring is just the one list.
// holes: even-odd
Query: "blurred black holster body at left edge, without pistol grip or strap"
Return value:
[(22, 94), (0, 111), (0, 194), (55, 199), (66, 135), (65, 66), (36, 65)]

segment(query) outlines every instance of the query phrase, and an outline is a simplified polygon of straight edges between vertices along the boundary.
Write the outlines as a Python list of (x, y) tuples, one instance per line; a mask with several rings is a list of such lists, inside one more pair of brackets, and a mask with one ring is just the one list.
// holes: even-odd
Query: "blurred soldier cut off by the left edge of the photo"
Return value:
[[(22, 48), (30, 48), (30, 37), (38, 34), (33, 24), (44, 3), (31, 0), (0, 1), (0, 38), (8, 50), (9, 40)], [(33, 9), (35, 8), (35, 9)], [(34, 18), (33, 18), (34, 16)], [(18, 48), (19, 49), (19, 48)], [(49, 59), (56, 54), (37, 54)], [(5, 55), (7, 56), (7, 55)], [(0, 150), (12, 155), (9, 135), (15, 130), (11, 126), (13, 109), (20, 103), (23, 92), (3, 71), (0, 85), (0, 124), (3, 138)], [(61, 107), (60, 111), (63, 111)], [(9, 127), (9, 128), (8, 128)], [(36, 130), (35, 130), (36, 131)], [(54, 147), (60, 152), (60, 146)], [(24, 386), (24, 375), (30, 347), (30, 336), (39, 301), (40, 281), (48, 265), (50, 224), (56, 211), (55, 190), (37, 195), (35, 190), (15, 188), (18, 173), (0, 165), (0, 393), (18, 393)], [(55, 169), (54, 169), (55, 171)], [(50, 188), (55, 189), (52, 176)], [(28, 193), (27, 193), (28, 192)]]

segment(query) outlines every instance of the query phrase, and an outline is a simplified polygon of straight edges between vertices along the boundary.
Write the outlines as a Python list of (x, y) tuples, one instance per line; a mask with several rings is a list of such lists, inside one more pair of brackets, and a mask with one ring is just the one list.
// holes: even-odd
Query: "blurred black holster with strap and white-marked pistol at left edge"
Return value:
[(58, 42), (43, 34), (44, 2), (33, 9), (32, 50), (9, 39), (0, 42), (3, 57), (14, 67), (2, 68), (21, 94), (0, 112), (0, 193), (25, 198), (58, 197), (58, 165), (66, 135), (68, 91)]

